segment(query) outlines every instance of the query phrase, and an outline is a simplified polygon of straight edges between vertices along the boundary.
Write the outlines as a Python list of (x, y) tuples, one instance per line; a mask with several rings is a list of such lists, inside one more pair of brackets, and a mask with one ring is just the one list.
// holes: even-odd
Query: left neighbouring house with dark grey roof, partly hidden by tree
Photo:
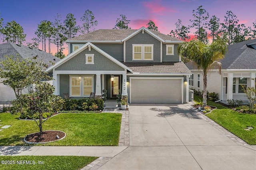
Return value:
[[(26, 47), (24, 45), (18, 45), (10, 42), (0, 44), (0, 61), (5, 60), (6, 56), (11, 56), (11, 55), (12, 56), (18, 55), (22, 59), (31, 59), (32, 57), (37, 56), (38, 59), (42, 59), (42, 61), (46, 64), (50, 64), (49, 63), (50, 61), (52, 61), (53, 63), (60, 61), (58, 57), (55, 57), (39, 49), (34, 49), (34, 48)], [(1, 80), (2, 78), (0, 77), (0, 81)], [(28, 92), (27, 88), (23, 90), (23, 93), (27, 93), (27, 92)], [(0, 83), (0, 104), (7, 104), (14, 99), (16, 99), (16, 97), (12, 88)]]

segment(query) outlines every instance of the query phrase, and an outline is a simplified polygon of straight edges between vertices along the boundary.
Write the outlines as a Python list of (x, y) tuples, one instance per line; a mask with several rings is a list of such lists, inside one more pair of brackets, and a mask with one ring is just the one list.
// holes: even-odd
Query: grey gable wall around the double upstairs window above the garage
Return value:
[[(154, 61), (132, 61), (132, 44), (154, 44), (154, 47), (153, 47)], [(126, 51), (125, 51), (126, 62), (160, 63), (160, 51), (161, 51), (160, 47), (161, 47), (161, 43), (156, 38), (146, 33), (146, 31), (144, 31), (144, 34), (142, 34), (142, 32), (139, 32), (138, 34), (134, 35), (132, 38), (126, 41)]]

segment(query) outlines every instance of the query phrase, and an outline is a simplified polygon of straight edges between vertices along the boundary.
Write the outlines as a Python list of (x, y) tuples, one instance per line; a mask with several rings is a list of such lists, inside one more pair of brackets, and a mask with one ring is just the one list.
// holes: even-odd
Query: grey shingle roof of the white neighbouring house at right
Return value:
[[(220, 63), (222, 69), (256, 69), (256, 39), (228, 45), (228, 51)], [(191, 62), (186, 66), (190, 70), (197, 69)]]

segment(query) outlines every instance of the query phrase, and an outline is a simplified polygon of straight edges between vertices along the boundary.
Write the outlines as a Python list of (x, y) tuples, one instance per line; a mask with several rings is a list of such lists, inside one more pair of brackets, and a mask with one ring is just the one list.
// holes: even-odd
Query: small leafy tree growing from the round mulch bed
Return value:
[[(54, 86), (48, 82), (42, 82), (42, 80), (52, 80), (52, 77), (45, 72), (46, 68), (48, 68), (47, 64), (37, 59), (37, 57), (33, 57), (25, 65), (27, 67), (20, 68), (20, 71), (24, 72), (23, 69), (27, 69), (28, 80), (26, 81), (34, 84), (35, 88), (28, 94), (21, 94), (19, 98), (13, 101), (11, 113), (39, 117), (39, 121), (35, 121), (39, 127), (40, 134), (42, 134), (42, 123), (47, 120), (43, 121), (43, 113), (53, 113), (62, 109), (64, 100), (60, 96), (53, 94)], [(12, 69), (10, 68), (10, 70)], [(20, 82), (22, 83), (22, 80)]]

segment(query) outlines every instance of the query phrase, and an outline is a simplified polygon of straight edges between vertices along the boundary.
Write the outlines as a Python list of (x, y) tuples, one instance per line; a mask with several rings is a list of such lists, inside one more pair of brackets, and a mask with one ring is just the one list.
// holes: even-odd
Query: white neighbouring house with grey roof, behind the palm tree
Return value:
[[(221, 75), (219, 70), (209, 70), (207, 75), (208, 92), (219, 94), (220, 100), (226, 103), (228, 99), (248, 101), (241, 85), (254, 87), (256, 75), (256, 39), (228, 45), (228, 51), (221, 61)], [(203, 76), (192, 63), (186, 66), (193, 73), (189, 77), (189, 87), (202, 91)]]

